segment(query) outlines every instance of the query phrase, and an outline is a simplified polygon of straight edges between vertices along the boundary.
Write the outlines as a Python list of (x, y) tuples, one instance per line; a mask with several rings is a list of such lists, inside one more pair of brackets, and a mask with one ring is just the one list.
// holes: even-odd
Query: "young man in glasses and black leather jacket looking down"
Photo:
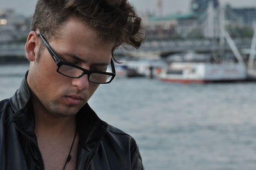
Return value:
[(131, 5), (39, 0), (31, 28), (29, 71), (15, 95), (0, 102), (0, 169), (143, 169), (134, 139), (87, 104), (115, 77), (116, 47), (143, 40)]

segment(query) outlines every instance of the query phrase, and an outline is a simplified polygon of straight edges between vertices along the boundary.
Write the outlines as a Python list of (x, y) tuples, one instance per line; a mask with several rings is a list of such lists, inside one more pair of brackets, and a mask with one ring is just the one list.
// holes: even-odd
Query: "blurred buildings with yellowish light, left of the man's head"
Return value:
[(0, 10), (0, 42), (23, 40), (28, 35), (30, 21), (13, 10)]

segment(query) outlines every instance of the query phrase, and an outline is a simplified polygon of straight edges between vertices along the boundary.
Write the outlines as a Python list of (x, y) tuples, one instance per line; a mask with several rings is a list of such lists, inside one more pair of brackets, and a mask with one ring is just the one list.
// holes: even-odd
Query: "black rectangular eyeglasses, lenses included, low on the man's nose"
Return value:
[(86, 70), (84, 68), (81, 68), (79, 66), (76, 66), (72, 63), (68, 63), (65, 61), (61, 61), (60, 58), (55, 54), (54, 50), (51, 48), (47, 40), (44, 38), (44, 36), (40, 33), (38, 33), (38, 36), (42, 39), (44, 42), (44, 45), (48, 52), (51, 54), (52, 59), (55, 61), (56, 65), (58, 66), (57, 72), (61, 75), (64, 75), (66, 77), (70, 78), (79, 78), (82, 77), (84, 74), (88, 75), (88, 81), (96, 83), (96, 84), (107, 84), (115, 78), (116, 71), (115, 66), (113, 63), (113, 59), (110, 61), (111, 65), (111, 72), (100, 72), (100, 71), (94, 71), (94, 70)]

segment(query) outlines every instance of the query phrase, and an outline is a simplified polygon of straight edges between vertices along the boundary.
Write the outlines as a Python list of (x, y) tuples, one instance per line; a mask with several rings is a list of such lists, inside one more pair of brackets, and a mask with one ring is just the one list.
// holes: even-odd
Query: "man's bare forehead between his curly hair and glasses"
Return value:
[[(114, 47), (112, 42), (104, 42), (86, 22), (75, 17), (65, 21), (51, 43), (60, 52), (72, 53), (82, 59), (105, 59), (110, 61)], [(57, 49), (56, 49), (57, 50)]]

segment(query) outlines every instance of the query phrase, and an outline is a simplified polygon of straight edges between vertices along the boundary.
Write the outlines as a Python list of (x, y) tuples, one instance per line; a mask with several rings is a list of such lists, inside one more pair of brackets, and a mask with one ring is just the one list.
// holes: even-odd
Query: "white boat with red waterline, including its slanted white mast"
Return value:
[(159, 79), (185, 83), (246, 81), (247, 68), (244, 60), (227, 32), (225, 38), (236, 59), (218, 61), (219, 58), (214, 59), (195, 52), (188, 52), (183, 56), (175, 55), (169, 59), (170, 64), (162, 70)]

